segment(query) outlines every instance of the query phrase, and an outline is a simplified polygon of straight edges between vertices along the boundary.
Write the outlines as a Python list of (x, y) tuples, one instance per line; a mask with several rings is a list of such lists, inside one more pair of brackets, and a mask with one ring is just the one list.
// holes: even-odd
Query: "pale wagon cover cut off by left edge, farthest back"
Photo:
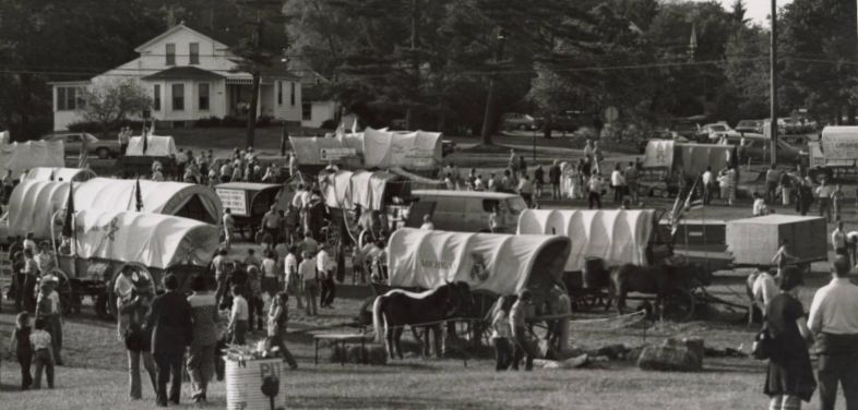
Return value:
[(0, 145), (0, 174), (12, 171), (17, 179), (34, 167), (64, 167), (62, 141), (27, 141)]

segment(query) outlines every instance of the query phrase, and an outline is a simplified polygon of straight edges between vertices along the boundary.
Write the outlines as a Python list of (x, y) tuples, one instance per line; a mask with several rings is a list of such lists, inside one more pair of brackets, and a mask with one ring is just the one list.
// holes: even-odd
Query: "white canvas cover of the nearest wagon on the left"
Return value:
[(127, 210), (84, 209), (75, 216), (78, 256), (136, 262), (166, 269), (204, 266), (218, 246), (217, 227), (193, 219)]

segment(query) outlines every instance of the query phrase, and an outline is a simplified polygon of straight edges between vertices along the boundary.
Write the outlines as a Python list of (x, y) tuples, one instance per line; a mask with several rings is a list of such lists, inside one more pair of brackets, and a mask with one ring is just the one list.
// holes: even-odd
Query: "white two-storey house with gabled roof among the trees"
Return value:
[[(233, 72), (229, 46), (179, 24), (134, 49), (139, 58), (83, 82), (53, 82), (53, 129), (81, 121), (78, 91), (102, 82), (132, 77), (153, 97), (152, 117), (162, 126), (186, 126), (208, 117), (243, 117), (252, 96), (252, 77)], [(286, 67), (263, 72), (258, 114), (302, 122), (301, 79)]]

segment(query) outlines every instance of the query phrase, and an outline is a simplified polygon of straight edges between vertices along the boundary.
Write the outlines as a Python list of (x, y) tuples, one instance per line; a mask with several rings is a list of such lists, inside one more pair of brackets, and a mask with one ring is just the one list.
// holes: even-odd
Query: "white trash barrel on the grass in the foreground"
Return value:
[(286, 408), (281, 359), (226, 360), (227, 410), (269, 410)]

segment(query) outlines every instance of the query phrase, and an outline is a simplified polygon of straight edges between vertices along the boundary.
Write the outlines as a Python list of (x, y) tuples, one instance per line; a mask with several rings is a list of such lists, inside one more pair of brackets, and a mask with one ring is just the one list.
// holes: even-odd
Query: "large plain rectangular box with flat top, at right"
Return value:
[(737, 265), (771, 264), (782, 240), (800, 262), (824, 261), (829, 256), (829, 232), (824, 218), (767, 215), (727, 222), (727, 248)]

